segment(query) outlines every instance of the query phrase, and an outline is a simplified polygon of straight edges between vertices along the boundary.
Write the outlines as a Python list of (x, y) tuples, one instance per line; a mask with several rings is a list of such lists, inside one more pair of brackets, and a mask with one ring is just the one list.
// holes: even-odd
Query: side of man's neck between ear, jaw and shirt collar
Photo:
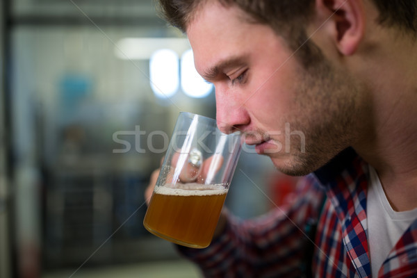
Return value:
[(372, 97), (354, 148), (377, 170), (391, 206), (407, 211), (417, 206), (417, 43), (395, 39), (367, 62)]

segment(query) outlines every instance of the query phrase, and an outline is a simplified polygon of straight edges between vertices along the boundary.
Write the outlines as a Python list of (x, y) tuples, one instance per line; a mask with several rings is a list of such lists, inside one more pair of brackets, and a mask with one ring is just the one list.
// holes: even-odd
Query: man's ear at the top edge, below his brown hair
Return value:
[(332, 24), (332, 40), (338, 51), (354, 54), (365, 32), (362, 0), (316, 0), (316, 10), (322, 22)]

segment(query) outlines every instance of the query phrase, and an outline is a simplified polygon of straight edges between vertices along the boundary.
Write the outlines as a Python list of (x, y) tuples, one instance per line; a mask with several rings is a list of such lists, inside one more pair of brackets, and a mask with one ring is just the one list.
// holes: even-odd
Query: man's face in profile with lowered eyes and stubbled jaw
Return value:
[(287, 174), (307, 174), (350, 145), (357, 97), (322, 59), (307, 72), (270, 26), (210, 1), (188, 24), (199, 74), (215, 85), (217, 121), (245, 132)]

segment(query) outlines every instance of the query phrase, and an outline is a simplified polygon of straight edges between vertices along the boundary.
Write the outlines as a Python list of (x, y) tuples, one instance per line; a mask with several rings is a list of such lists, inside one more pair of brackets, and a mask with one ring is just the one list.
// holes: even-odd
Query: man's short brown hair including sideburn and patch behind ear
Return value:
[[(158, 0), (167, 22), (184, 33), (188, 22), (207, 1), (214, 0)], [(320, 49), (307, 40), (304, 26), (313, 15), (313, 0), (217, 0), (224, 6), (236, 5), (249, 18), (267, 24), (297, 51), (296, 57), (304, 67), (314, 66), (323, 59)], [(400, 28), (417, 35), (417, 0), (372, 0), (379, 10), (379, 24)], [(301, 47), (302, 46), (302, 47)], [(300, 48), (301, 47), (301, 48)]]

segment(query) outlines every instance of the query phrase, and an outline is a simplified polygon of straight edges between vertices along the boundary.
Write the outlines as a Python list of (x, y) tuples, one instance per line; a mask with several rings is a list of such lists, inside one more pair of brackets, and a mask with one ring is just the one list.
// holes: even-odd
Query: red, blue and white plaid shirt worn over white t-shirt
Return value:
[[(205, 277), (372, 277), (368, 180), (368, 165), (346, 149), (302, 179), (291, 206), (254, 220), (228, 215), (209, 247), (179, 250)], [(373, 277), (417, 277), (417, 215)]]

